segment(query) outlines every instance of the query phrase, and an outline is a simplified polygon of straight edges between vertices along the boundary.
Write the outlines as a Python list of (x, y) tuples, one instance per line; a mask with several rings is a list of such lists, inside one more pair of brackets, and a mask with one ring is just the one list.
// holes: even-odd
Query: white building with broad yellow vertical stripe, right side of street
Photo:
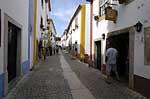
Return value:
[(80, 4), (73, 14), (66, 33), (66, 46), (74, 50), (77, 43), (78, 57), (84, 59), (90, 53), (90, 5)]

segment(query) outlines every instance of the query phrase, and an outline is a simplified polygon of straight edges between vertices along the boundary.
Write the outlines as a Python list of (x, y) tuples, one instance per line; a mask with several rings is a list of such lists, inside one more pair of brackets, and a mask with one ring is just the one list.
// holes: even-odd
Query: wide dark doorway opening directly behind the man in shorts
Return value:
[(118, 50), (117, 70), (121, 80), (129, 81), (129, 33), (110, 37), (112, 44)]

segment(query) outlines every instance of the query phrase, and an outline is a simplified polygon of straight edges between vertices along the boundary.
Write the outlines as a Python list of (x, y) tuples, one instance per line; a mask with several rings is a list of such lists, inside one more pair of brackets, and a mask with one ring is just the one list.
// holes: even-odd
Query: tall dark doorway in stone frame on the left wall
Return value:
[(14, 24), (8, 22), (8, 54), (7, 54), (7, 71), (8, 71), (8, 83), (16, 78), (18, 72), (18, 53), (20, 52), (19, 43), (21, 42), (18, 39), (20, 29)]

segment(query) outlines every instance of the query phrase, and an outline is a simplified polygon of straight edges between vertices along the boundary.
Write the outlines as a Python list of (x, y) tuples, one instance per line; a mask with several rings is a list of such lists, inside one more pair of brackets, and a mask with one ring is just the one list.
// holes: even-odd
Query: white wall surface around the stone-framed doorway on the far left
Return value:
[[(7, 6), (6, 6), (7, 5)], [(28, 60), (28, 0), (1, 0), (0, 8), (2, 12), (2, 31), (1, 31), (1, 48), (0, 48), (0, 73), (3, 72), (4, 66), (4, 14), (13, 18), (16, 22), (22, 25), (21, 39), (22, 39), (22, 62)]]

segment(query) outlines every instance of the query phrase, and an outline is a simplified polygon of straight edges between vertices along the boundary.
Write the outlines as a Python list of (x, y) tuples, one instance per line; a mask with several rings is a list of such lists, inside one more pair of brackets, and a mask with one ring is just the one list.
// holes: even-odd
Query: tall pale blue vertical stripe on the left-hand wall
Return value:
[(28, 0), (28, 64), (30, 65), (30, 2), (32, 0)]

